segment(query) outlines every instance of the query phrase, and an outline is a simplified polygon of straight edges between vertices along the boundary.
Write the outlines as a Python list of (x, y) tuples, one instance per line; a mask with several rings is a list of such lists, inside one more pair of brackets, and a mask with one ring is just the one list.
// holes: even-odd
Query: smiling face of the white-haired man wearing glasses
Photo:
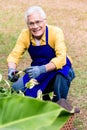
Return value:
[(46, 19), (40, 13), (33, 12), (27, 17), (27, 26), (36, 39), (40, 39), (45, 32)]

